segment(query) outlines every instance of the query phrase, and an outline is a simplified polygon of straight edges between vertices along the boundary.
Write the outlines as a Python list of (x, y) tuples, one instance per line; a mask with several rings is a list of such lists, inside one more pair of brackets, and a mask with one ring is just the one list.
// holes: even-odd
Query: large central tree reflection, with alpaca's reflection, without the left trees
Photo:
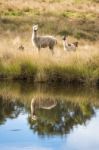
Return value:
[(85, 124), (94, 115), (89, 103), (81, 105), (61, 99), (40, 99), (31, 102), (30, 128), (39, 135), (63, 135), (74, 125)]

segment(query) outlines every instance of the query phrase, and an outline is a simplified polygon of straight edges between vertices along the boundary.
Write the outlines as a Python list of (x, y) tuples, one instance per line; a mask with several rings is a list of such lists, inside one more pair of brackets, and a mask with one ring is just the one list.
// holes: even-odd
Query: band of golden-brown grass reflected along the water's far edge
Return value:
[[(49, 90), (50, 89), (50, 90)], [(42, 103), (46, 99), (57, 101), (63, 100), (66, 102), (73, 102), (75, 105), (80, 105), (81, 109), (86, 112), (85, 105), (87, 103), (93, 106), (99, 106), (99, 93), (96, 89), (72, 87), (72, 86), (57, 86), (51, 87), (49, 85), (35, 85), (22, 82), (0, 83), (0, 96), (7, 100), (20, 100), (27, 107), (30, 108), (32, 98), (39, 100)]]

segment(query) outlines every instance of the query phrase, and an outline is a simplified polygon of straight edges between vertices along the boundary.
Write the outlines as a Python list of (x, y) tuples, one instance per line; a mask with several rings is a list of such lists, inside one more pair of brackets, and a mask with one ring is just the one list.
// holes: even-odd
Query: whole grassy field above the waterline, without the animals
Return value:
[[(98, 0), (0, 0), (0, 78), (35, 82), (99, 83)], [(39, 34), (57, 38), (55, 54), (31, 42), (32, 25)], [(62, 37), (78, 41), (76, 52), (64, 52)], [(20, 45), (25, 47), (19, 51)]]

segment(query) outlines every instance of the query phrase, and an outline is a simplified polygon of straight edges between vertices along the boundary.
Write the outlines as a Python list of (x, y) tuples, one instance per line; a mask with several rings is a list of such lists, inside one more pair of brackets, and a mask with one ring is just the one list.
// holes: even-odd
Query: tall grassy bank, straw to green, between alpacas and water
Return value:
[(52, 56), (46, 51), (40, 54), (33, 51), (3, 51), (0, 58), (0, 78), (97, 84), (99, 52), (79, 50), (70, 53), (62, 52), (58, 55), (56, 49), (55, 55)]

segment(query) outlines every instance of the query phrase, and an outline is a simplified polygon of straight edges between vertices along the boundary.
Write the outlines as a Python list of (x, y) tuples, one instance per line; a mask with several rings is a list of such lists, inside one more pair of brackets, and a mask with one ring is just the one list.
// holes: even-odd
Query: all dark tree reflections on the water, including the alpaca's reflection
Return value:
[(21, 112), (28, 113), (28, 123), (39, 135), (63, 135), (77, 124), (85, 124), (94, 115), (89, 102), (75, 103), (54, 97), (36, 97), (27, 104), (24, 100), (0, 99), (0, 124), (6, 119), (17, 118)]

